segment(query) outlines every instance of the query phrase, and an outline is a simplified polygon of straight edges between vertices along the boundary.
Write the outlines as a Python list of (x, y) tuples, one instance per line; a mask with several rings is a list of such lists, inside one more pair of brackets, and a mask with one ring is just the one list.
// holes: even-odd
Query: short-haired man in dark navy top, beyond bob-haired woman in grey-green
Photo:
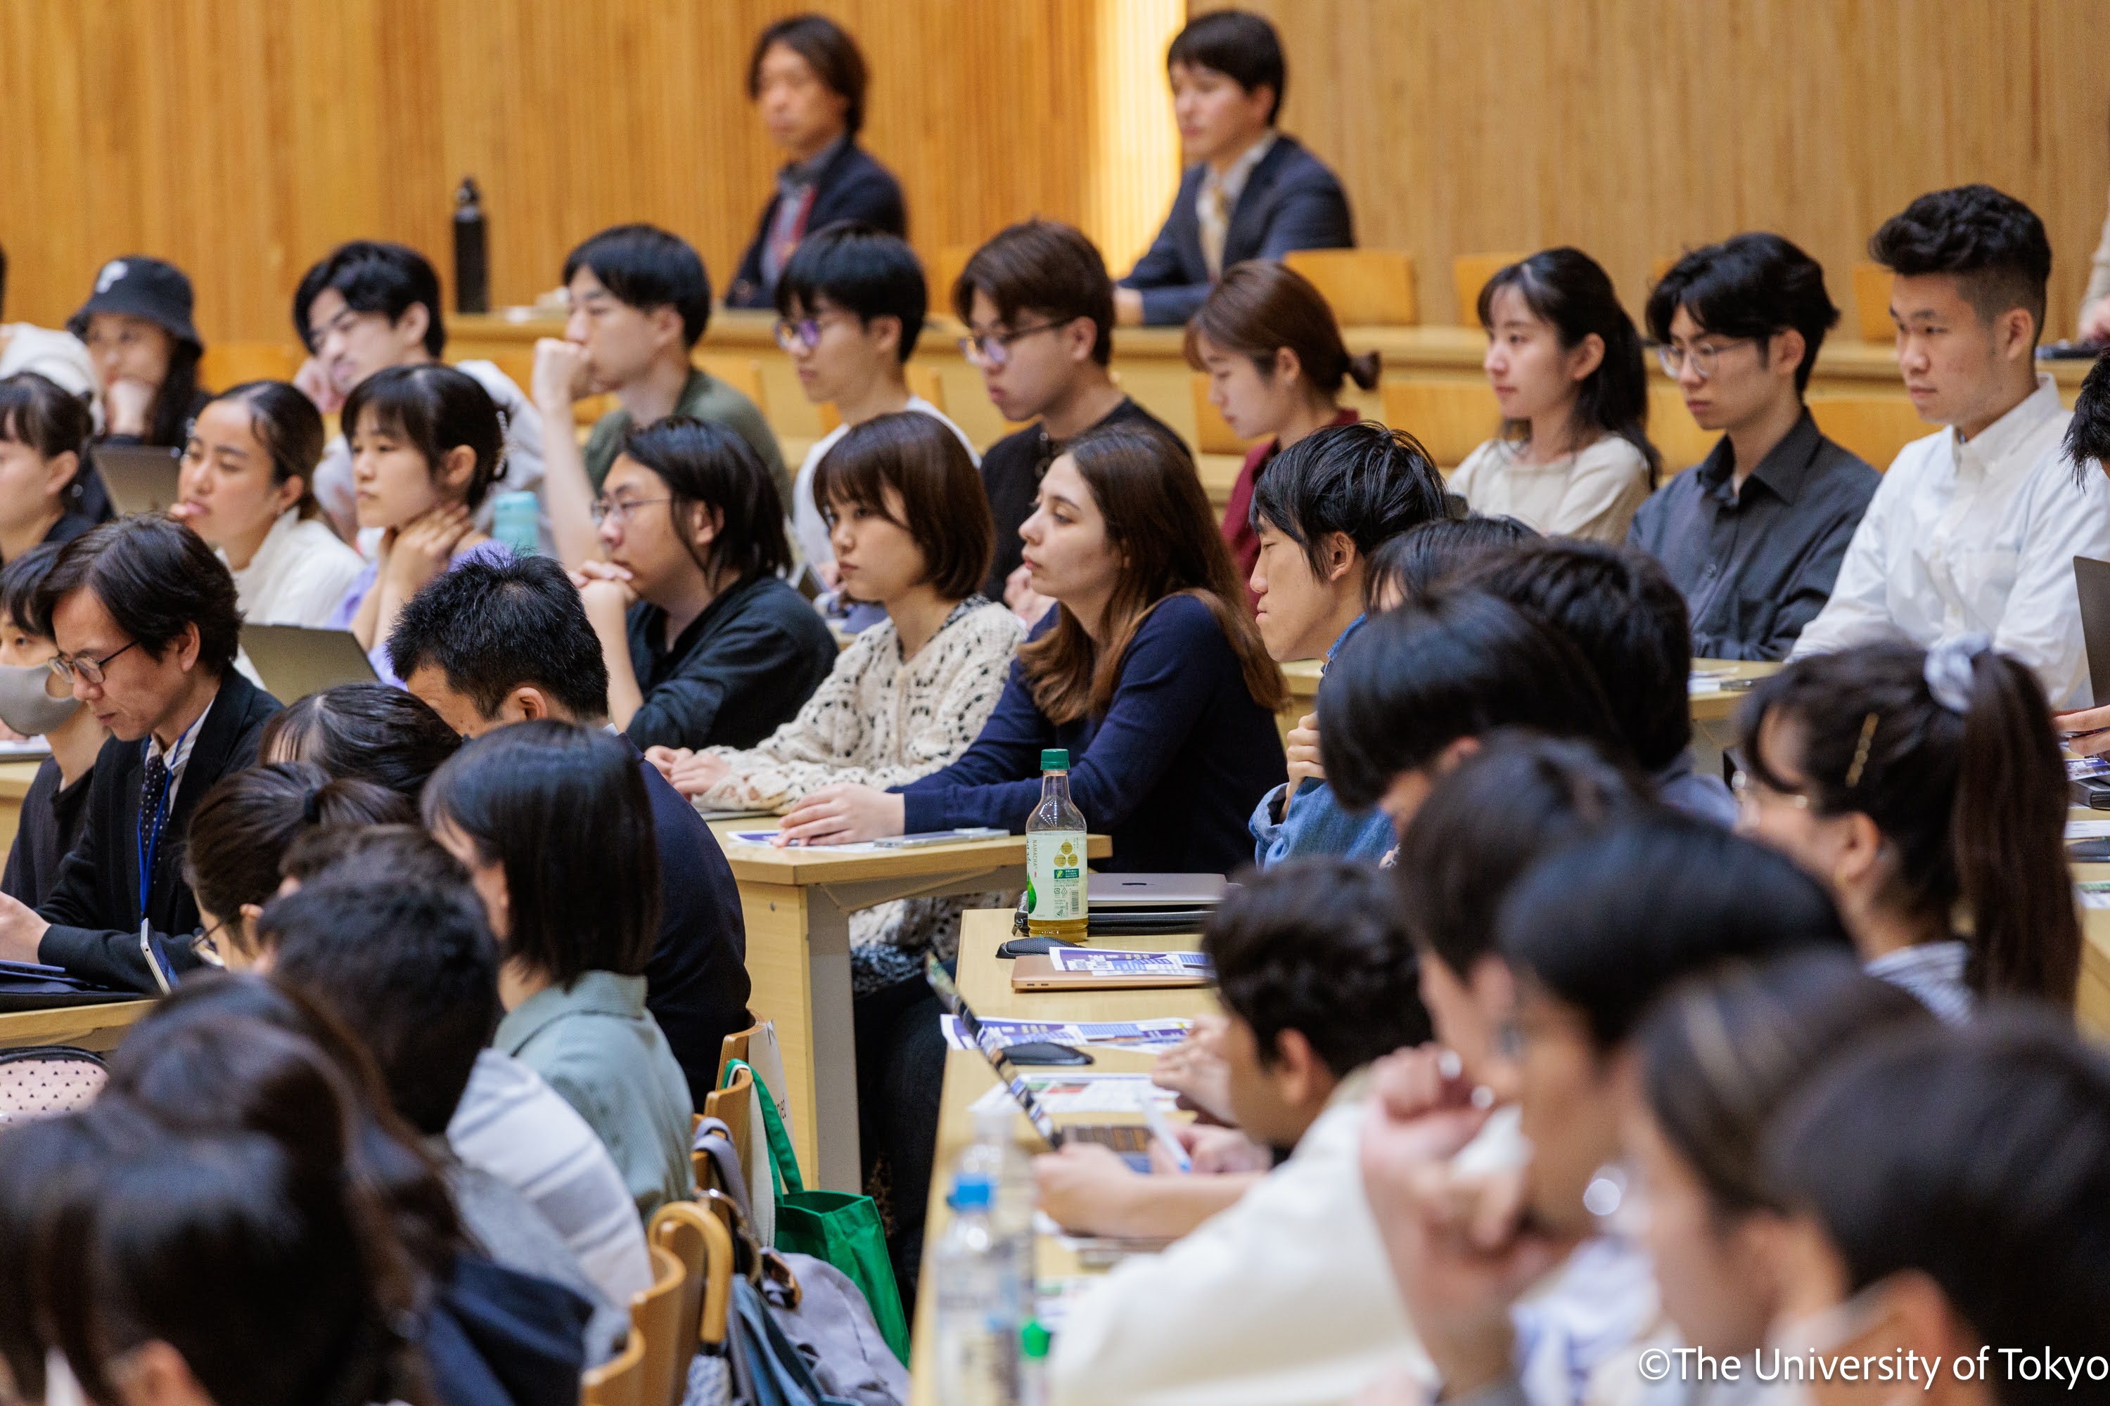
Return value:
[[(397, 616), (388, 664), (471, 738), (540, 717), (608, 725), (601, 641), (578, 588), (549, 556), (471, 561), (441, 575)], [(751, 1024), (747, 923), (711, 826), (644, 753), (637, 765), (660, 852), (660, 932), (646, 963), (646, 1010), (701, 1109), (717, 1088), (720, 1046)]]

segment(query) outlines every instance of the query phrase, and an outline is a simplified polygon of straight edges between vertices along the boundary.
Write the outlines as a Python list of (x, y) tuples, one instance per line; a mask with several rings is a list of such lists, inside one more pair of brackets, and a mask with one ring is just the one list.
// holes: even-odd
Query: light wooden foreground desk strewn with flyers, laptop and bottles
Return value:
[[(979, 1016), (1015, 1016), (1023, 1020), (1150, 1020), (1184, 1016), (1194, 1018), (1215, 1010), (1215, 991), (1203, 987), (1173, 991), (1013, 991), (1011, 963), (996, 957), (998, 944), (1009, 936), (1002, 913), (968, 913), (960, 925), (960, 995)], [(1192, 949), (1198, 936), (1171, 938), (1108, 938), (1093, 946), (1127, 949)], [(1093, 1050), (1093, 1069), (1148, 1071), (1156, 1056), (1131, 1054), (1125, 1050)], [(937, 1277), (931, 1273), (931, 1256), (945, 1227), (952, 1225), (952, 1208), (945, 1197), (952, 1193), (952, 1168), (960, 1153), (975, 1140), (975, 1100), (996, 1088), (990, 1062), (973, 1050), (945, 1052), (945, 1092), (939, 1102), (937, 1161), (931, 1172), (931, 1212), (924, 1223), (922, 1282), (916, 1292), (916, 1341), (909, 1355), (909, 1402), (931, 1406), (937, 1402), (937, 1383), (931, 1379), (931, 1349), (937, 1332)], [(1063, 1119), (1057, 1119), (1063, 1121)], [(1108, 1121), (1095, 1113), (1091, 1121)], [(1047, 1147), (1032, 1126), (1017, 1117), (1013, 1134), (1019, 1147), (1044, 1153)], [(1038, 1246), (1040, 1275), (1076, 1273), (1074, 1258), (1066, 1256), (1055, 1242), (1042, 1239)]]

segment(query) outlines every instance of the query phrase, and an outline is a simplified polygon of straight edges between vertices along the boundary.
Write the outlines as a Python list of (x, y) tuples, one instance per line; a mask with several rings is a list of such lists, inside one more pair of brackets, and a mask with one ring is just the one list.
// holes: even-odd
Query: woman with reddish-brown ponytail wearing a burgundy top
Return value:
[(1260, 441), (1245, 455), (1224, 508), (1224, 540), (1245, 582), (1260, 561), (1253, 483), (1268, 460), (1312, 430), (1361, 419), (1342, 407), (1340, 388), (1355, 379), (1374, 390), (1378, 354), (1350, 356), (1319, 289), (1304, 274), (1264, 259), (1224, 270), (1188, 323), (1186, 354), (1190, 367), (1209, 375), (1209, 405), (1239, 438)]

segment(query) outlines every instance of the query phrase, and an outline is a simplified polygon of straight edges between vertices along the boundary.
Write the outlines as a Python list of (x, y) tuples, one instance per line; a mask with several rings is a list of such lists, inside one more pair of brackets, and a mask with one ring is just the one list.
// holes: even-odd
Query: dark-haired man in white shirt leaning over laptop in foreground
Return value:
[(1342, 1402), (1388, 1372), (1433, 1381), (1357, 1168), (1367, 1065), (1428, 1039), (1388, 875), (1279, 864), (1224, 902), (1203, 949), (1230, 1016), (1232, 1115), (1296, 1151), (1068, 1309), (1055, 1402), (1291, 1406)]

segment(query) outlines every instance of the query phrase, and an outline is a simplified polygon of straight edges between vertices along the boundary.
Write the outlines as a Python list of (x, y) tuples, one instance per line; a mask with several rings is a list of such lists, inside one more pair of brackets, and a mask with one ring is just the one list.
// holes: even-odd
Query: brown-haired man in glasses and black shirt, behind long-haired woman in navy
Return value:
[[(1089, 238), (1053, 219), (1011, 226), (960, 270), (952, 310), (966, 323), (960, 350), (981, 369), (1004, 419), (1036, 419), (981, 455), (996, 516), (996, 559), (983, 594), (1038, 620), (1019, 567), (1019, 525), (1061, 443), (1101, 424), (1139, 422), (1173, 434), (1114, 386), (1114, 280)], [(1017, 575), (1017, 580), (1013, 580)]]

